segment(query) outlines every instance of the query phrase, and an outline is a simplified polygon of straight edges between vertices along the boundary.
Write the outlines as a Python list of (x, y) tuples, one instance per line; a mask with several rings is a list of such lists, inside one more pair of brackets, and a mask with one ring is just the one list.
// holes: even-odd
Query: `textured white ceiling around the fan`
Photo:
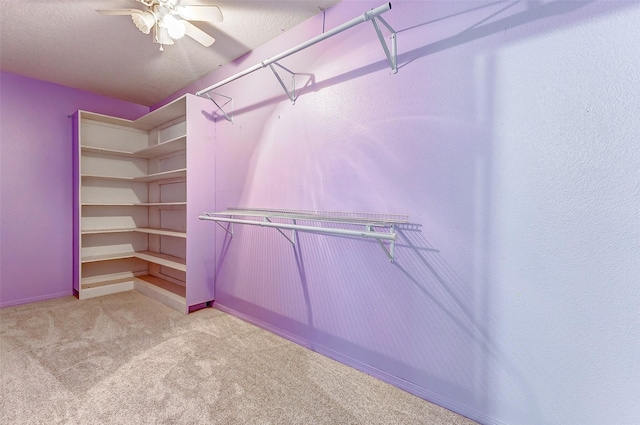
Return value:
[(0, 69), (150, 106), (338, 1), (183, 0), (220, 7), (223, 22), (194, 22), (216, 42), (160, 52), (130, 16), (95, 11), (135, 0), (0, 0)]

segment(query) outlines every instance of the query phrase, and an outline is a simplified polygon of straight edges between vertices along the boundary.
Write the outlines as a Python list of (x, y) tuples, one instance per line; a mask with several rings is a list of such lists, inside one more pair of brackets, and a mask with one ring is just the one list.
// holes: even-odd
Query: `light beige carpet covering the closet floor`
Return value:
[(137, 292), (0, 309), (2, 424), (473, 424), (215, 309)]

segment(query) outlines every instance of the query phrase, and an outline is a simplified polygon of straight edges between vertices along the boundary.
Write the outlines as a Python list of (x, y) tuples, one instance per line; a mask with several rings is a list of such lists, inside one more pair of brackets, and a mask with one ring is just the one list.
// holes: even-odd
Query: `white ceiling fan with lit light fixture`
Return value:
[(222, 12), (218, 6), (182, 5), (182, 0), (135, 0), (146, 6), (141, 9), (98, 9), (103, 15), (130, 15), (136, 27), (145, 34), (153, 29), (153, 42), (164, 45), (173, 44), (173, 40), (185, 35), (193, 38), (205, 47), (211, 46), (216, 39), (211, 37), (189, 21), (222, 22)]

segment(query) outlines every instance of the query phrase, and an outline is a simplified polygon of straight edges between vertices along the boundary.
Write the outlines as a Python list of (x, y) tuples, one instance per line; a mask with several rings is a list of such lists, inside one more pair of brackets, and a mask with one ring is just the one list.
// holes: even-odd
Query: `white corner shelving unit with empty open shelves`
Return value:
[[(197, 226), (187, 218), (189, 198), (194, 208), (213, 201), (207, 108), (209, 102), (186, 95), (135, 121), (77, 112), (78, 298), (136, 289), (185, 313), (213, 300), (213, 270), (199, 263), (200, 256), (213, 258), (214, 244), (197, 231), (194, 241), (187, 237)], [(188, 171), (190, 163), (203, 162), (209, 171)], [(196, 189), (203, 189), (197, 197)]]

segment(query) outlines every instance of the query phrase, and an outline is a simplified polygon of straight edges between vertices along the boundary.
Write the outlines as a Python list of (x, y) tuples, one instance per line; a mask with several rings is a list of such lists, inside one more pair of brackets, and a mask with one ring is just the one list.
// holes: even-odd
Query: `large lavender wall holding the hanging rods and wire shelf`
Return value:
[[(187, 87), (359, 16), (343, 1)], [(640, 416), (637, 2), (394, 1), (217, 91), (216, 203), (407, 213), (375, 241), (236, 225), (216, 304), (483, 423)], [(304, 79), (308, 79), (304, 80)], [(176, 94), (176, 96), (179, 93)]]

